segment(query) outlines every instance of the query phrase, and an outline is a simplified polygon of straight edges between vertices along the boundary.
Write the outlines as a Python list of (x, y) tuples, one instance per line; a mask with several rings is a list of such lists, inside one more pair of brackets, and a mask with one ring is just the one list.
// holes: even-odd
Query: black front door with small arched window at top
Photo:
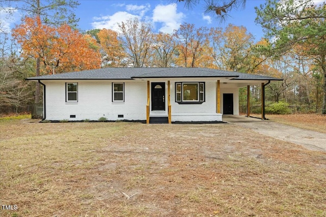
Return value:
[(165, 110), (165, 82), (152, 83), (152, 111)]

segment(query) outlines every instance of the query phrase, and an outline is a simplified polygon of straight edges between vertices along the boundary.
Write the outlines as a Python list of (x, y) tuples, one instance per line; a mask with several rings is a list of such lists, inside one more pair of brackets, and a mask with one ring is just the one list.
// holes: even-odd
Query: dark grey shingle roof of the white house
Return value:
[(207, 68), (103, 68), (42, 75), (27, 80), (112, 80), (133, 78), (234, 77), (234, 80), (282, 80), (262, 75)]

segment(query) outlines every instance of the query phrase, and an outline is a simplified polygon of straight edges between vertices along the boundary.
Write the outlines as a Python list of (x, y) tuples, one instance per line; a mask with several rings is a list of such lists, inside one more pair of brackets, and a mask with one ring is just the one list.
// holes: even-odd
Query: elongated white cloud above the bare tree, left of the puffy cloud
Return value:
[(138, 15), (133, 15), (125, 11), (119, 11), (113, 14), (112, 16), (102, 16), (102, 17), (94, 17), (96, 20), (92, 22), (93, 28), (106, 28), (118, 31), (118, 23), (125, 22), (128, 19), (138, 18), (141, 19)]

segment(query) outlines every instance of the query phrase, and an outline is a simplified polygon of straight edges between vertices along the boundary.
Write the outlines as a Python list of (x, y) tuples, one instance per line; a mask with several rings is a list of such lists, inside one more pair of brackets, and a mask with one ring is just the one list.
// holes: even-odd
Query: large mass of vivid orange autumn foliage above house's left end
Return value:
[(41, 58), (42, 74), (100, 68), (101, 59), (96, 41), (80, 34), (69, 25), (51, 27), (39, 17), (25, 17), (12, 30), (22, 49), (22, 56)]

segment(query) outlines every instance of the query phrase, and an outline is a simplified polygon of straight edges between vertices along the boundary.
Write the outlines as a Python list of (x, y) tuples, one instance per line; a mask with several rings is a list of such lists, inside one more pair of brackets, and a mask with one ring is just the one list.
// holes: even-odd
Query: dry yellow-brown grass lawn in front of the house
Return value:
[(326, 153), (228, 124), (0, 122), (1, 216), (325, 216)]

